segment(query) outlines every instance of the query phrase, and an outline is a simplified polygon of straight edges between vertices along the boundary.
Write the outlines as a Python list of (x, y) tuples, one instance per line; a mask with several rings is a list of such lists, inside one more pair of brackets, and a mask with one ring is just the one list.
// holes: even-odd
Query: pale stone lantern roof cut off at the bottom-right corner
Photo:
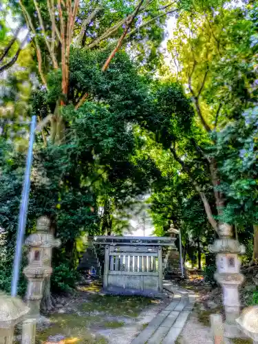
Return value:
[(258, 305), (246, 308), (236, 321), (247, 336), (258, 341)]

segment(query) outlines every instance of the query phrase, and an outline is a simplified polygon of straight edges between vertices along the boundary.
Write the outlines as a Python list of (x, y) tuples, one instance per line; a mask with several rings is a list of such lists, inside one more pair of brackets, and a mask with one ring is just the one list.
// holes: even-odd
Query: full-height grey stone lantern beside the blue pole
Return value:
[(60, 246), (61, 241), (54, 239), (49, 232), (50, 220), (43, 216), (38, 219), (37, 231), (26, 239), (25, 244), (30, 246), (28, 256), (29, 265), (23, 273), (28, 278), (27, 300), (30, 307), (30, 316), (39, 317), (42, 299), (43, 280), (52, 274), (52, 248)]

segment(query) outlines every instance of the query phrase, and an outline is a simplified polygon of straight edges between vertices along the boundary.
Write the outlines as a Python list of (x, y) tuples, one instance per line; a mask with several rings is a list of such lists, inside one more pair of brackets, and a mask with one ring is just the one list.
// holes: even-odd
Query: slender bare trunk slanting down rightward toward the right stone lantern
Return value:
[(189, 178), (191, 180), (191, 182), (193, 183), (193, 186), (195, 186), (195, 190), (197, 191), (197, 193), (199, 193), (202, 202), (204, 204), (204, 209), (208, 218), (208, 222), (210, 222), (211, 226), (213, 227), (213, 229), (215, 230), (215, 232), (217, 232), (217, 222), (215, 221), (214, 217), (213, 217), (213, 213), (211, 211), (211, 206), (208, 203), (207, 197), (205, 195), (205, 193), (202, 191), (200, 185), (197, 184), (197, 182), (194, 180), (193, 175), (189, 169), (188, 166), (186, 166), (186, 164), (184, 164), (184, 161), (180, 159), (180, 157), (177, 155), (175, 148), (171, 147), (170, 148), (171, 153), (173, 154), (174, 159), (179, 162), (179, 164), (182, 166), (182, 169), (189, 175)]

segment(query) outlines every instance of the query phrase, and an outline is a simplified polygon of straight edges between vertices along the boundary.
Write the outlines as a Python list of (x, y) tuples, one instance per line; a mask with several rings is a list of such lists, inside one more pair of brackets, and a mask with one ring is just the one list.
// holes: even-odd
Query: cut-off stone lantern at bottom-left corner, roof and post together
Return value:
[(18, 297), (0, 292), (0, 344), (12, 344), (14, 326), (23, 321), (29, 310)]

